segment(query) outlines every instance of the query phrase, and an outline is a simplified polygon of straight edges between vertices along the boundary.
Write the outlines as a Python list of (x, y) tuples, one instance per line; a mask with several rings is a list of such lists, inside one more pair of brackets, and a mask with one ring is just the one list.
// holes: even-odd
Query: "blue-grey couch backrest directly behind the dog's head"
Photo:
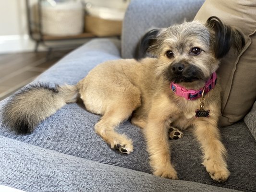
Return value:
[(132, 0), (122, 26), (122, 58), (133, 58), (139, 39), (152, 28), (192, 21), (204, 0)]

